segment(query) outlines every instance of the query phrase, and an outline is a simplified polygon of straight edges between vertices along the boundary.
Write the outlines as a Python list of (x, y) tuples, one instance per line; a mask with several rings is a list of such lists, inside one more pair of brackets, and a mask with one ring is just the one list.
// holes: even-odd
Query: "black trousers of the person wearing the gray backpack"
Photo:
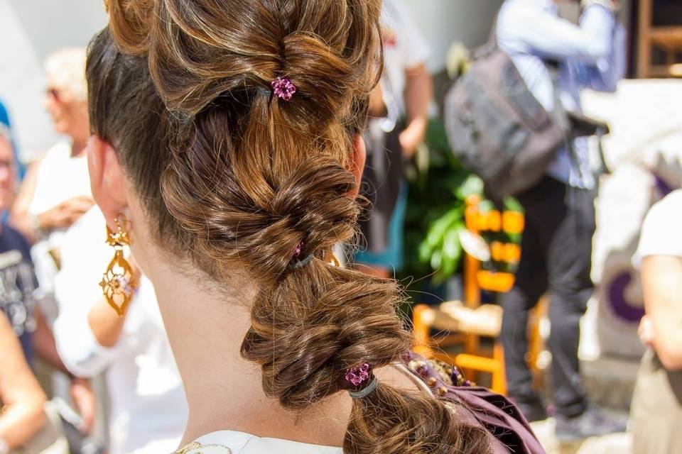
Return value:
[(594, 192), (545, 177), (517, 199), (526, 210), (521, 262), (514, 288), (502, 300), (502, 343), (509, 395), (521, 404), (536, 402), (525, 358), (526, 327), (530, 309), (548, 291), (553, 401), (558, 413), (577, 416), (587, 405), (580, 377), (578, 341), (580, 318), (592, 293)]

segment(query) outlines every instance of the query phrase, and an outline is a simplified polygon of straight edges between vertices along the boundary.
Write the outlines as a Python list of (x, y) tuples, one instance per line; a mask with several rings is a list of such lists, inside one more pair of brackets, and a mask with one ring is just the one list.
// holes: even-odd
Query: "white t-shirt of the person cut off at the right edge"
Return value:
[(646, 214), (634, 265), (639, 267), (649, 255), (682, 257), (682, 189), (668, 194)]

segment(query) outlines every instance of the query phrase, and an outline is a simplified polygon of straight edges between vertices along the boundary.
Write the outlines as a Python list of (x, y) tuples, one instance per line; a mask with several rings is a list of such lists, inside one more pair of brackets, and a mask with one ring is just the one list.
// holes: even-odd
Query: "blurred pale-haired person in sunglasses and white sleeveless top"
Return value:
[[(65, 135), (29, 168), (11, 211), (11, 223), (33, 243), (31, 254), (43, 294), (53, 294), (60, 243), (66, 229), (92, 204), (85, 148), (90, 136), (85, 50), (58, 50), (45, 60), (45, 108)], [(45, 307), (52, 321), (54, 307)]]

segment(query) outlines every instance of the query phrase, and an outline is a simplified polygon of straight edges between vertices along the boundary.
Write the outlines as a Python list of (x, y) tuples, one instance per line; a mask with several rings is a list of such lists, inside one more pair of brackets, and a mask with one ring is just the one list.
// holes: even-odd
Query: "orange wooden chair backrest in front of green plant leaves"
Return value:
[[(470, 196), (466, 201), (465, 226), (478, 236), (486, 233), (507, 233), (520, 235), (524, 231), (524, 214), (519, 211), (480, 210), (479, 196)], [(513, 267), (521, 258), (521, 247), (516, 243), (493, 240), (489, 243), (490, 259)], [(465, 250), (464, 299), (469, 307), (481, 304), (481, 290), (509, 292), (514, 286), (514, 274), (507, 271), (485, 270), (479, 259)]]

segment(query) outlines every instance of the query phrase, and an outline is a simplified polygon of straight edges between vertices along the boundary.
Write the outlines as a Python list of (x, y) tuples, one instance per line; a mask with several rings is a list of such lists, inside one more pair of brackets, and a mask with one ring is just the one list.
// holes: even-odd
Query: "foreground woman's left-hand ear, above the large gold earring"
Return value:
[(126, 177), (116, 150), (106, 140), (92, 135), (87, 144), (87, 167), (94, 201), (102, 210), (109, 227), (128, 208)]

